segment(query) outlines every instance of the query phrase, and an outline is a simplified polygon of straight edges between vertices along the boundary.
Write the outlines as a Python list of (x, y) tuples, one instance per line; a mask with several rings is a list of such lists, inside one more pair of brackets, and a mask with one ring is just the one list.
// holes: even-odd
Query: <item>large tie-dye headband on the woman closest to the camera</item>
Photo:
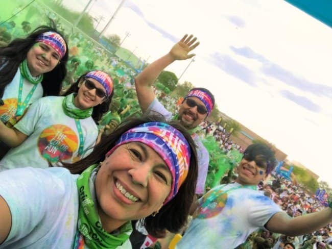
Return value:
[(106, 156), (118, 146), (129, 142), (141, 142), (150, 146), (169, 167), (172, 173), (172, 188), (164, 204), (168, 203), (176, 195), (188, 173), (191, 153), (187, 140), (167, 123), (149, 122), (124, 133)]

